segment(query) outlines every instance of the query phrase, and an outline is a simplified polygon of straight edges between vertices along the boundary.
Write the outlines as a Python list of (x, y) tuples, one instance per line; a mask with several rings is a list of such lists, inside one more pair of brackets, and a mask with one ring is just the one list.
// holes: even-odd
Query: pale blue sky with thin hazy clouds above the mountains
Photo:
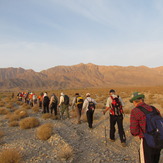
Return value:
[(162, 0), (0, 0), (0, 68), (163, 66)]

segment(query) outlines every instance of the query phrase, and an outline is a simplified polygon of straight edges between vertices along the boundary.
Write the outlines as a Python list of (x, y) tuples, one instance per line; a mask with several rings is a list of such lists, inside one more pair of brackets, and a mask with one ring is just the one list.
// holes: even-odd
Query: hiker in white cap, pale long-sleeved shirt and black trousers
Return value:
[(90, 93), (87, 93), (82, 109), (85, 110), (86, 112), (88, 127), (90, 129), (93, 128), (92, 125), (93, 125), (93, 114), (95, 111), (95, 105), (96, 105), (96, 101), (93, 98), (91, 98)]

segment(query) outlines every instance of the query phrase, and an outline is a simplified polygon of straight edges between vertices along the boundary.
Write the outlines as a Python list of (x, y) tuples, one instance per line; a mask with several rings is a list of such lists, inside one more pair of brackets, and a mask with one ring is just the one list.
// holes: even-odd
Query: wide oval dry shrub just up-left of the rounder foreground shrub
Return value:
[(27, 117), (19, 122), (19, 126), (21, 129), (34, 128), (39, 126), (39, 124), (40, 124), (39, 120), (35, 117)]

